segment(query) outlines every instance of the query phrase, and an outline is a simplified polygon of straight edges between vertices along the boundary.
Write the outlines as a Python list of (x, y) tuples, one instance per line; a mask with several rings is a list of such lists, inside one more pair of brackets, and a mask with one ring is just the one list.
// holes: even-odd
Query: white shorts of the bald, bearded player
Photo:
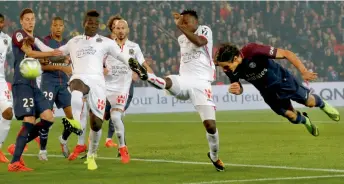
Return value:
[(110, 90), (106, 91), (106, 98), (110, 102), (111, 109), (117, 108), (124, 111), (124, 107), (127, 104), (128, 96), (128, 90), (123, 92)]

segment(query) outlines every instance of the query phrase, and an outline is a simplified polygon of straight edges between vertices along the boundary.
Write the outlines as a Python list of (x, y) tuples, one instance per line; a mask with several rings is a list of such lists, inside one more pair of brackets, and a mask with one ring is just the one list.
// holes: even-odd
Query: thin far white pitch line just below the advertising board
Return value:
[[(130, 121), (131, 123), (201, 123), (201, 121), (196, 121), (196, 120), (135, 120), (135, 121)], [(224, 120), (217, 120), (216, 122), (218, 123), (289, 123), (286, 120), (281, 120), (281, 121), (262, 121), (262, 120), (238, 120), (238, 121), (224, 121)], [(339, 122), (334, 122), (334, 121), (312, 121), (314, 123), (333, 123), (333, 124), (338, 124)]]

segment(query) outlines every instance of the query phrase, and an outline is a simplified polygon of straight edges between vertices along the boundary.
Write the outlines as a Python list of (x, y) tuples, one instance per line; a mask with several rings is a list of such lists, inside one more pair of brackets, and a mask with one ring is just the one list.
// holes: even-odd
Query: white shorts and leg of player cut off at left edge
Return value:
[(9, 160), (1, 151), (2, 144), (5, 142), (8, 132), (10, 130), (11, 121), (13, 118), (12, 112), (12, 97), (11, 92), (8, 90), (6, 82), (0, 83), (0, 162), (8, 163)]

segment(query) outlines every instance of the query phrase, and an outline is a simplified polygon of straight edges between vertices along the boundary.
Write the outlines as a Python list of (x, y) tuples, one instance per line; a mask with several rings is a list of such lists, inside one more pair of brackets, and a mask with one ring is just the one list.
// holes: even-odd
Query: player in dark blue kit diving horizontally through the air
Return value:
[(319, 107), (332, 120), (340, 120), (337, 109), (320, 96), (311, 94), (308, 88), (273, 59), (289, 60), (305, 81), (317, 78), (317, 74), (308, 71), (293, 52), (255, 43), (247, 44), (241, 50), (234, 45), (223, 44), (215, 56), (215, 63), (229, 77), (230, 93), (240, 95), (243, 88), (239, 79), (248, 81), (260, 91), (264, 101), (275, 113), (293, 124), (304, 124), (313, 136), (319, 135), (318, 128), (311, 123), (305, 112), (293, 108), (291, 100), (307, 107)]

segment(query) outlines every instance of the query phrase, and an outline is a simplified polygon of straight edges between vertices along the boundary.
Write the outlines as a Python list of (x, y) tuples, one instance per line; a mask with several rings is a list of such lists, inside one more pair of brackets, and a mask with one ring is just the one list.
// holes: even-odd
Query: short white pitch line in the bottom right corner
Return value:
[(259, 181), (306, 180), (306, 179), (342, 178), (342, 177), (344, 177), (344, 175), (298, 176), (298, 177), (283, 177), (283, 178), (257, 178), (257, 179), (243, 179), (243, 180), (202, 181), (202, 182), (183, 183), (183, 184), (244, 183), (244, 182), (259, 182)]

